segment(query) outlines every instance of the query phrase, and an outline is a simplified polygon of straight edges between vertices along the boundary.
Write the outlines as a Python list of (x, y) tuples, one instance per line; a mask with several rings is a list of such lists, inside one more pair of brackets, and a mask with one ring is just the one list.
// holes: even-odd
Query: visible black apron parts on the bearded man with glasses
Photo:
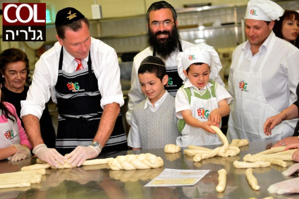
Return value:
[[(182, 52), (182, 45), (180, 41), (177, 41), (178, 49)], [(152, 50), (152, 56), (156, 56), (155, 49)], [(176, 91), (183, 85), (183, 80), (179, 77), (177, 72), (177, 66), (166, 66), (166, 74), (168, 75), (168, 82), (165, 85), (165, 89), (170, 95), (175, 97)]]

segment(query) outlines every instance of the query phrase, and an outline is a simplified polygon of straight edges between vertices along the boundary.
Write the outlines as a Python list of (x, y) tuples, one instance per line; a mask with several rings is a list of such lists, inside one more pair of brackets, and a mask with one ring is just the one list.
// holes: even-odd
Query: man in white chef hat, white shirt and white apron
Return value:
[(277, 141), (294, 133), (296, 120), (283, 121), (269, 136), (263, 129), (267, 118), (279, 114), (297, 99), (299, 49), (272, 31), (274, 20), (283, 14), (284, 9), (271, 0), (250, 0), (247, 4), (248, 40), (234, 50), (228, 80), (233, 98), (229, 140)]

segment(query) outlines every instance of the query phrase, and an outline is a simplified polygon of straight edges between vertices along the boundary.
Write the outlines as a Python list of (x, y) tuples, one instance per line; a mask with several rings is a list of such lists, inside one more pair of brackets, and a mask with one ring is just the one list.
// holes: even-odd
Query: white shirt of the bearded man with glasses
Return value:
[[(194, 46), (195, 44), (190, 43), (188, 41), (180, 40), (182, 45), (182, 50)], [(172, 52), (167, 59), (163, 59), (166, 66), (176, 66), (176, 57), (179, 53), (179, 50)], [(129, 96), (129, 103), (128, 103), (128, 111), (126, 113), (126, 119), (128, 124), (131, 125), (131, 114), (134, 106), (145, 100), (145, 95), (143, 94), (140, 86), (140, 81), (138, 78), (138, 69), (140, 67), (140, 63), (148, 56), (152, 56), (152, 49), (147, 47), (140, 53), (138, 53), (134, 57), (133, 68), (132, 68), (132, 75), (131, 75), (131, 89), (128, 93)], [(158, 55), (156, 55), (158, 56)], [(161, 57), (160, 57), (161, 58)]]

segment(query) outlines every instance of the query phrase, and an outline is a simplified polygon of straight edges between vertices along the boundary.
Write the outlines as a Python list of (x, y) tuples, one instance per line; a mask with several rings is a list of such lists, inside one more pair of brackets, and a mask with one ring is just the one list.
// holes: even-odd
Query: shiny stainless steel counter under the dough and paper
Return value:
[[(165, 154), (163, 149), (123, 151), (111, 154), (101, 154), (100, 158), (116, 157), (118, 155), (151, 153), (164, 161), (164, 166), (158, 169), (112, 171), (108, 165), (82, 166), (73, 169), (47, 169), (40, 184), (32, 184), (29, 188), (11, 188), (0, 190), (0, 199), (263, 199), (272, 196), (274, 199), (299, 199), (299, 195), (276, 195), (268, 193), (270, 185), (296, 175), (285, 177), (281, 173), (286, 170), (276, 165), (268, 168), (254, 169), (254, 176), (261, 187), (254, 191), (245, 176), (246, 169), (235, 169), (233, 161), (242, 161), (246, 154), (256, 154), (271, 147), (271, 142), (250, 143), (241, 147), (236, 157), (214, 157), (198, 163), (192, 161), (191, 156), (183, 154), (183, 150), (176, 154)], [(215, 148), (215, 146), (208, 146)], [(24, 160), (12, 164), (0, 161), (0, 173), (19, 171), (21, 167), (35, 164), (35, 159)], [(289, 161), (291, 166), (295, 162)], [(169, 169), (208, 169), (211, 170), (203, 179), (192, 187), (144, 187), (151, 179), (158, 176), (164, 168)], [(216, 192), (218, 184), (217, 171), (226, 169), (227, 186), (225, 192)]]

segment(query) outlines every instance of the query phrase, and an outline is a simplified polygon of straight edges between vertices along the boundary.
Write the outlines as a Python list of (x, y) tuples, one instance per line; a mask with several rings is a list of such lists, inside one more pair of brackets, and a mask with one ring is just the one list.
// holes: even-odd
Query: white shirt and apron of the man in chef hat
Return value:
[[(247, 73), (248, 78), (251, 75), (250, 81), (256, 78), (242, 91), (240, 84), (247, 82), (246, 79), (235, 77), (240, 72)], [(298, 74), (299, 49), (290, 42), (276, 37), (273, 31), (254, 56), (248, 41), (239, 45), (233, 53), (228, 82), (228, 91), (232, 95), (228, 138), (246, 138), (253, 142), (280, 140), (292, 136), (298, 119), (283, 121), (274, 128), (272, 136), (265, 135), (263, 125), (267, 118), (278, 114), (295, 102)], [(251, 86), (257, 89), (250, 88)], [(253, 101), (244, 107), (243, 103), (246, 103), (249, 97), (253, 98)], [(261, 111), (262, 109), (264, 111)]]

